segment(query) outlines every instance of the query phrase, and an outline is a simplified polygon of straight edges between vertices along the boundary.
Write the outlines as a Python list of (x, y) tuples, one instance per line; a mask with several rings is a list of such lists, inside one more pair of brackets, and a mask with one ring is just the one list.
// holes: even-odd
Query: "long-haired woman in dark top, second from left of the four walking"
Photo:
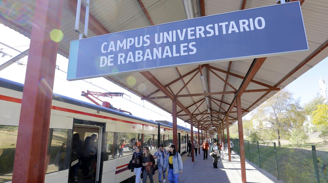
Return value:
[(150, 154), (149, 147), (144, 146), (142, 149), (142, 178), (143, 183), (147, 183), (147, 175), (151, 183), (154, 183), (153, 179), (153, 169), (155, 168), (155, 159), (152, 154)]

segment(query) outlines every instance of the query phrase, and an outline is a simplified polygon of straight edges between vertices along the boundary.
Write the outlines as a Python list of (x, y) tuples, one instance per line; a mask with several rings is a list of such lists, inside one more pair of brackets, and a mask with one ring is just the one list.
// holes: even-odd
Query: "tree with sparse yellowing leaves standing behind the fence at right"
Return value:
[(295, 100), (293, 93), (282, 89), (256, 108), (253, 120), (259, 122), (258, 130), (266, 128), (275, 130), (280, 147), (280, 139), (288, 138), (289, 130), (303, 125), (305, 113), (299, 104), (299, 99)]

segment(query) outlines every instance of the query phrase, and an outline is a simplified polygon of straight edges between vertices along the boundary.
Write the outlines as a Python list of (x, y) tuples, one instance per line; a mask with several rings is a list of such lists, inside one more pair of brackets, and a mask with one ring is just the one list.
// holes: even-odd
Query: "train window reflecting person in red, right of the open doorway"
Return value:
[(140, 141), (138, 138), (141, 139), (141, 134), (117, 133), (118, 157), (132, 155), (133, 148)]

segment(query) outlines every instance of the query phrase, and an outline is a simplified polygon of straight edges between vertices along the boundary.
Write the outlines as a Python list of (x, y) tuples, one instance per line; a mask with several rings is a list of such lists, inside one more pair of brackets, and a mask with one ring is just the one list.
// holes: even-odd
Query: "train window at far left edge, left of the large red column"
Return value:
[(0, 126), (0, 182), (12, 178), (18, 126)]

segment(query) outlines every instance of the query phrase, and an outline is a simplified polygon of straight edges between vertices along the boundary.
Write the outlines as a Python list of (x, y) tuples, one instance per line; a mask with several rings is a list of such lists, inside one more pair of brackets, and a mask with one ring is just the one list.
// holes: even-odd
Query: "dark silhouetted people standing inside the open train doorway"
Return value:
[[(86, 137), (82, 143), (80, 135), (78, 133), (73, 134), (70, 172), (72, 182), (78, 182), (77, 175), (81, 162), (83, 179), (95, 178), (98, 153), (98, 142), (96, 142), (96, 139), (97, 135), (93, 134), (90, 137)], [(92, 170), (92, 177), (89, 176), (90, 170)]]

